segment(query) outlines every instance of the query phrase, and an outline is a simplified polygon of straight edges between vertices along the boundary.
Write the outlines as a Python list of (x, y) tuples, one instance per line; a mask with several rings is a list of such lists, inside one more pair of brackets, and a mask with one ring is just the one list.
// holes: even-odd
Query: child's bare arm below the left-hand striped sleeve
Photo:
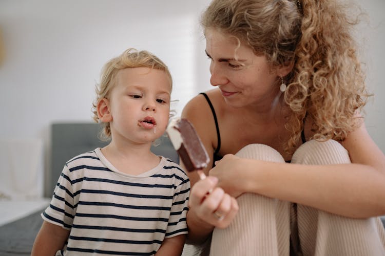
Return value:
[(69, 231), (61, 226), (44, 221), (33, 243), (31, 256), (55, 255), (57, 250), (63, 249)]

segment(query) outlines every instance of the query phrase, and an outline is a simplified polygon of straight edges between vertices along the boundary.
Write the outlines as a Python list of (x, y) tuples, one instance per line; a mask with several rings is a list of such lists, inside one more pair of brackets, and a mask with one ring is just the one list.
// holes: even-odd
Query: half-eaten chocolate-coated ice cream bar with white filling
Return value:
[(206, 149), (194, 126), (187, 119), (172, 119), (168, 124), (166, 132), (189, 172), (207, 167), (210, 159)]

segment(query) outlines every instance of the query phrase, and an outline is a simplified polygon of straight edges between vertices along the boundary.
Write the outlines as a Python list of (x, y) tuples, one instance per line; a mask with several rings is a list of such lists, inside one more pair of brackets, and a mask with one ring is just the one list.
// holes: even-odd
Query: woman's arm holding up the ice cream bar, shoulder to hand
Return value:
[[(182, 112), (182, 117), (188, 119), (200, 136), (203, 145), (210, 156), (210, 162), (203, 172), (213, 166), (214, 144), (217, 143), (217, 133), (213, 114), (202, 95), (191, 99)], [(184, 167), (183, 162), (180, 165)], [(230, 224), (238, 212), (235, 198), (216, 187), (217, 179), (208, 177), (200, 180), (197, 172), (188, 173), (191, 192), (189, 197), (189, 211), (187, 212), (188, 236), (187, 243), (202, 243), (214, 227), (224, 228)], [(223, 219), (215, 218), (214, 212), (220, 212)]]

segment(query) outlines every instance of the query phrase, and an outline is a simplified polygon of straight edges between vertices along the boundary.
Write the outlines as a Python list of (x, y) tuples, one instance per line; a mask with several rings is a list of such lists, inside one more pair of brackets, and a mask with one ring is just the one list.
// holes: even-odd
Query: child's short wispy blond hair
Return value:
[[(125, 50), (118, 57), (110, 59), (104, 66), (101, 72), (100, 84), (96, 85), (96, 99), (92, 102), (93, 120), (100, 122), (98, 117), (97, 106), (99, 102), (110, 97), (110, 92), (115, 85), (115, 80), (118, 72), (127, 68), (150, 68), (164, 71), (170, 78), (170, 86), (172, 90), (172, 77), (168, 67), (157, 56), (148, 51), (138, 51), (133, 48)], [(108, 140), (111, 137), (110, 124), (101, 123), (103, 130), (100, 135), (102, 140)]]

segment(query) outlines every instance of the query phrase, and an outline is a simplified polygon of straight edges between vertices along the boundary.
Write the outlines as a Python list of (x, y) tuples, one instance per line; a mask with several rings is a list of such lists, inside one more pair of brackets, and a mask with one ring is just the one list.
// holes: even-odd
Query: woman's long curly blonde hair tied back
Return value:
[(304, 118), (314, 123), (312, 138), (342, 141), (358, 125), (354, 118), (369, 96), (357, 57), (352, 25), (336, 0), (214, 0), (201, 17), (204, 29), (236, 36), (271, 67), (294, 63), (284, 77), (290, 108), (285, 151), (300, 139)]

